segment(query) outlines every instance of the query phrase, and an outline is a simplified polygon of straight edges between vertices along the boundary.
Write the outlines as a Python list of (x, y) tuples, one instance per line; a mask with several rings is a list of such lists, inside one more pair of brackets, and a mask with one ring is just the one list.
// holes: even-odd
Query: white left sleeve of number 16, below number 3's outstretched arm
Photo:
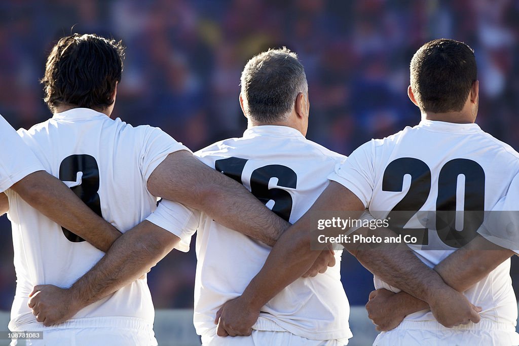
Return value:
[(179, 237), (180, 242), (175, 246), (176, 250), (188, 252), (191, 237), (200, 224), (200, 212), (163, 199), (146, 220)]

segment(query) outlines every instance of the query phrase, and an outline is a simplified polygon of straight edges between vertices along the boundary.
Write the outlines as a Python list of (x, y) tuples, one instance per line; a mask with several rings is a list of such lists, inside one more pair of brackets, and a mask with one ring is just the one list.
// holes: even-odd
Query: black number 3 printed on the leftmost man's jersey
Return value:
[[(99, 198), (99, 167), (95, 158), (90, 155), (71, 155), (66, 157), (60, 164), (60, 180), (65, 182), (75, 182), (77, 173), (83, 173), (81, 185), (71, 187), (71, 190), (94, 213), (103, 217), (101, 214), (101, 200)], [(84, 242), (85, 239), (62, 227), (66, 239), (71, 242)]]

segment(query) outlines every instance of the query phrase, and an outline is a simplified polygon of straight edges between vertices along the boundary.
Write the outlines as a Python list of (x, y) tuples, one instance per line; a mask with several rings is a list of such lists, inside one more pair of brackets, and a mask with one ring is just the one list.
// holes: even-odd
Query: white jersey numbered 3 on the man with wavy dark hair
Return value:
[[(146, 188), (149, 175), (168, 154), (187, 150), (158, 128), (134, 128), (88, 108), (54, 114), (19, 134), (47, 172), (69, 185), (93, 211), (122, 232), (156, 209), (157, 198)], [(34, 330), (36, 317), (27, 306), (33, 286), (70, 287), (104, 254), (38, 213), (15, 192), (7, 192), (17, 274), (9, 328)], [(136, 280), (80, 310), (67, 326), (73, 328), (77, 323), (85, 327), (88, 321), (99, 323), (101, 317), (114, 316), (153, 324), (154, 308), (146, 280)]]

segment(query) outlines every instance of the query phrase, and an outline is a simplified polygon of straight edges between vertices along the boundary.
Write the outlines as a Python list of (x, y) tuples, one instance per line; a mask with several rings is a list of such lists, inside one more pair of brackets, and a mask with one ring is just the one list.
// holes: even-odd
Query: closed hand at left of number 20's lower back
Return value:
[(400, 309), (395, 294), (390, 290), (380, 288), (370, 293), (370, 300), (366, 304), (367, 316), (376, 326), (377, 331), (386, 331), (396, 328), (406, 314)]

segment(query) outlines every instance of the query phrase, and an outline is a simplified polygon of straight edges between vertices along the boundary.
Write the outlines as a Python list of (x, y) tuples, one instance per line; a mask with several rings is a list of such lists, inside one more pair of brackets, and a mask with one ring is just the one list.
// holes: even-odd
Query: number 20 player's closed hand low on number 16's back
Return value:
[(216, 335), (251, 335), (251, 327), (260, 316), (260, 310), (251, 308), (242, 300), (241, 297), (229, 300), (216, 312), (214, 319), (214, 323), (218, 325)]

